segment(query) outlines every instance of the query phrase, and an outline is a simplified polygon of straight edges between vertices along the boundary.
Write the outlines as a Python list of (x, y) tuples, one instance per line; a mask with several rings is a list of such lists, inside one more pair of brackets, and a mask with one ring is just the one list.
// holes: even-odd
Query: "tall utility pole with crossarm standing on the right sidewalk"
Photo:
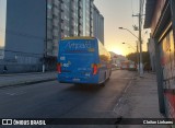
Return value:
[(140, 44), (140, 77), (143, 77), (143, 63), (142, 63), (142, 39), (141, 39), (141, 25), (142, 25), (142, 1), (140, 0), (140, 10), (138, 15), (132, 15), (132, 16), (138, 16), (139, 18), (139, 44)]

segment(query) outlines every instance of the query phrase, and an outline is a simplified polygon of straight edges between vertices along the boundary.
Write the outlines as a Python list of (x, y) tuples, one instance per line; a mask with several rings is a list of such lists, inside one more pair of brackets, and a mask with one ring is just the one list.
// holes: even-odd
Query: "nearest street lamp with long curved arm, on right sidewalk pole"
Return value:
[(141, 40), (141, 33), (140, 33), (141, 30), (139, 28), (139, 37), (138, 37), (131, 31), (129, 31), (128, 28), (124, 28), (124, 27), (118, 27), (118, 28), (128, 31), (130, 34), (132, 34), (132, 36), (135, 36), (139, 40), (139, 43), (140, 43), (140, 65), (139, 65), (139, 69), (140, 69), (140, 77), (143, 77), (142, 47), (141, 47), (142, 40)]

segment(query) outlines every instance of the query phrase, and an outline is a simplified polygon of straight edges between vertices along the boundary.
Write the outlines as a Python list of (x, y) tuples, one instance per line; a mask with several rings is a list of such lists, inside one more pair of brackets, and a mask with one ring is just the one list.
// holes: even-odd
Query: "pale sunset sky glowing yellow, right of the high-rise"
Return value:
[[(132, 14), (139, 13), (139, 0), (94, 0), (101, 14), (104, 16), (104, 38), (105, 47), (109, 51), (119, 55), (128, 55), (136, 51), (136, 42), (133, 35), (125, 30), (130, 30), (136, 36), (138, 31), (133, 31), (132, 25), (138, 26), (138, 18)], [(147, 50), (149, 33), (148, 30), (142, 30), (143, 51)], [(122, 44), (125, 43), (125, 44)]]

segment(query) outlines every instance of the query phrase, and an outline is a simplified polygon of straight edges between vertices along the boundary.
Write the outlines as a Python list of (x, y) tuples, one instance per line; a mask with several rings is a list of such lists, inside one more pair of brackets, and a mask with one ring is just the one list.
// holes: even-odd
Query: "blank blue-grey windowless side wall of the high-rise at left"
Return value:
[(24, 53), (43, 57), (45, 37), (46, 1), (7, 1), (5, 59), (13, 60), (15, 56), (23, 56)]

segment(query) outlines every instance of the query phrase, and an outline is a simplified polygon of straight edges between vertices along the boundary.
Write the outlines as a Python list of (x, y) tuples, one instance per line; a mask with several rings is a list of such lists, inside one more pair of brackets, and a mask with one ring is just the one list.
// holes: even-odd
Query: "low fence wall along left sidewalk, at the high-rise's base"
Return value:
[(45, 63), (46, 71), (56, 70), (56, 57), (43, 57), (39, 54), (20, 53), (5, 50), (3, 59), (0, 59), (0, 73), (4, 66), (7, 73), (38, 72), (43, 70)]

